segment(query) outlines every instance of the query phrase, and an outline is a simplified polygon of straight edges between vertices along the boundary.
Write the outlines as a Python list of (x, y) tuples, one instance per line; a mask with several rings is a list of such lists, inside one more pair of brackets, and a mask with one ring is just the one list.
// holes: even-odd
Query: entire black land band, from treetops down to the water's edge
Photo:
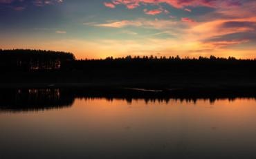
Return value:
[[(123, 57), (76, 60), (50, 50), (0, 50), (0, 88), (120, 89), (119, 93), (256, 95), (256, 59)], [(125, 89), (128, 88), (128, 89)], [(144, 91), (143, 91), (144, 90)], [(152, 93), (152, 92), (151, 92)]]

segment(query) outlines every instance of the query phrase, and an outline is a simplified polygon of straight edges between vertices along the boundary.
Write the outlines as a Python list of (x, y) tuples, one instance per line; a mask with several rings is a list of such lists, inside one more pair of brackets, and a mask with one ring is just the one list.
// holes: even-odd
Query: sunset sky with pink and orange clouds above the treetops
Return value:
[(0, 48), (256, 58), (255, 0), (0, 0)]

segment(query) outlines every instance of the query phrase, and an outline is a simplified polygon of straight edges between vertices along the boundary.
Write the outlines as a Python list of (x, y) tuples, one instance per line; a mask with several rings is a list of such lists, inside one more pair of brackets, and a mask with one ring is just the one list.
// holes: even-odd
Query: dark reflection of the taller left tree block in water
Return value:
[(71, 106), (74, 98), (60, 89), (17, 89), (0, 92), (1, 111), (41, 111)]

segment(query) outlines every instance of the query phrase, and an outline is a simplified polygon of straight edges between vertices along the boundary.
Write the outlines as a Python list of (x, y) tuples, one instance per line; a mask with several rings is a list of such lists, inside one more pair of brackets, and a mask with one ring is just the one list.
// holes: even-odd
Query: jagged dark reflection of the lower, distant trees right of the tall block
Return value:
[[(142, 90), (142, 91), (140, 91)], [(170, 103), (170, 102), (185, 102), (185, 103), (194, 103), (199, 100), (204, 100), (214, 104), (217, 100), (229, 100), (230, 102), (237, 99), (256, 99), (254, 92), (250, 91), (194, 91), (187, 90), (181, 91), (177, 89), (173, 90), (163, 90), (163, 91), (152, 91), (147, 89), (134, 89), (134, 88), (119, 88), (119, 89), (77, 89), (73, 92), (75, 97), (84, 98), (85, 100), (97, 100), (105, 99), (109, 102), (113, 100), (124, 100), (128, 104), (136, 102), (137, 100), (144, 100), (145, 104), (153, 103)], [(232, 93), (231, 93), (232, 92)]]

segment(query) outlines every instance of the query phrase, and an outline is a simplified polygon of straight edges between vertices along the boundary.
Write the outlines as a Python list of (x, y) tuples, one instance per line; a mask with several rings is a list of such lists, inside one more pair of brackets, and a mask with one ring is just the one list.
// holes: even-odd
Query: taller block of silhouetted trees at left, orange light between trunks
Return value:
[(0, 50), (1, 71), (53, 70), (73, 60), (72, 53), (51, 50)]

